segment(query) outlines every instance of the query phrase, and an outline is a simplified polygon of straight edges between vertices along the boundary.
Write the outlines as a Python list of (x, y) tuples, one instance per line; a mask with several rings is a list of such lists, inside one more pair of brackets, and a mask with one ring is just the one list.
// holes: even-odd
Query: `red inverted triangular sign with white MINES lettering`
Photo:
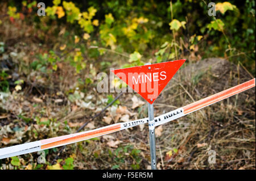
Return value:
[(152, 104), (184, 62), (182, 59), (112, 71)]

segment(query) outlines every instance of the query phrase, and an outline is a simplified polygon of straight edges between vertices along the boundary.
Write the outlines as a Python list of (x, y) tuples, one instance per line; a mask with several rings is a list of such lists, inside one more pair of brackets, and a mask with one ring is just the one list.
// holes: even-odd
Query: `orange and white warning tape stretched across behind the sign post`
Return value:
[[(220, 100), (229, 98), (232, 95), (236, 95), (242, 91), (248, 90), (255, 86), (255, 78), (250, 81), (241, 83), (240, 85), (234, 86), (230, 89), (218, 92), (217, 94), (208, 96), (207, 98), (198, 100), (194, 103), (188, 104), (187, 106), (177, 108), (174, 111), (164, 113), (158, 117), (155, 117), (155, 126), (168, 123), (172, 120), (178, 119), (184, 115), (200, 110), (206, 106), (219, 102)], [(68, 134), (65, 136), (59, 136), (54, 138), (48, 138), (45, 140), (28, 142), (26, 144), (20, 144), (15, 146), (9, 146), (7, 148), (0, 149), (0, 159), (13, 157), (16, 155), (22, 155), (32, 153), (35, 151), (56, 148), (63, 145), (72, 144), (79, 141), (88, 140), (90, 138), (103, 136), (105, 134), (114, 133), (123, 129), (135, 127), (137, 125), (148, 123), (148, 118), (138, 119), (134, 121), (128, 121), (125, 123), (116, 123), (108, 125), (106, 127), (93, 129), (90, 131)]]

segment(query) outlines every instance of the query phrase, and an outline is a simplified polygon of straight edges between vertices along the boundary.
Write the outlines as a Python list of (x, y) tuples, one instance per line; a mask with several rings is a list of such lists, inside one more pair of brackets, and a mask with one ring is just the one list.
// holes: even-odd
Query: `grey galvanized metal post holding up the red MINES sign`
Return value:
[[(147, 63), (145, 65), (150, 65)], [(148, 69), (151, 69), (149, 66)], [(150, 101), (153, 101), (151, 99)], [(151, 169), (156, 170), (156, 153), (155, 153), (155, 121), (154, 121), (154, 105), (153, 103), (147, 103), (147, 112), (148, 112), (148, 128), (149, 128), (149, 137), (150, 137), (150, 157), (151, 157)]]

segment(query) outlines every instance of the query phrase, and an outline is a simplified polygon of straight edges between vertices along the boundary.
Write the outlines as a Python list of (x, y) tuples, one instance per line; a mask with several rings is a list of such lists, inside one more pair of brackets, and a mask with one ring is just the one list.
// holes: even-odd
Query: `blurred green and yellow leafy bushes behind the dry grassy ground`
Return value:
[[(126, 66), (224, 57), (255, 74), (255, 1), (217, 1), (216, 16), (208, 15), (208, 1), (54, 0), (45, 2), (46, 16), (35, 14), (37, 3), (8, 1), (10, 20), (34, 23), (45, 32), (38, 35), (42, 41), (50, 30), (59, 36), (60, 25), (66, 25), (60, 50), (80, 48), (68, 58), (77, 73), (86, 67), (83, 56), (97, 58), (111, 50), (130, 54)], [(48, 56), (56, 70), (59, 55)]]

